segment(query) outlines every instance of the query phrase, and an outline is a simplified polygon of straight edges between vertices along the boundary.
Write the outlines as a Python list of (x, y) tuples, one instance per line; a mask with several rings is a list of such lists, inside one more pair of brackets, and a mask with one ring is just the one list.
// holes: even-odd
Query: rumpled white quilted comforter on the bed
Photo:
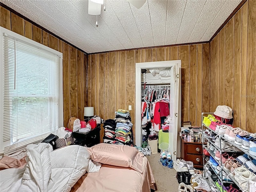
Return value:
[(50, 144), (40, 143), (30, 144), (26, 150), (28, 164), (23, 169), (0, 171), (1, 192), (67, 192), (95, 166), (82, 146), (52, 151)]

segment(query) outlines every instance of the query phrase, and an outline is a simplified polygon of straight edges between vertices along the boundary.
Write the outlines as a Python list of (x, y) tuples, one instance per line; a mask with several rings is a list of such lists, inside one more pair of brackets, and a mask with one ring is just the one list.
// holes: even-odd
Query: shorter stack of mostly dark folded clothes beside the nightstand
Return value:
[(116, 121), (113, 119), (105, 120), (104, 124), (104, 143), (113, 144), (116, 138)]

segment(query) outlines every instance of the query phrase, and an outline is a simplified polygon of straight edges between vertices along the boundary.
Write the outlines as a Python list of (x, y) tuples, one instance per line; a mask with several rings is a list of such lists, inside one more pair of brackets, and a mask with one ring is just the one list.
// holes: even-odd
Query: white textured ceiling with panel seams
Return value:
[(106, 0), (98, 28), (88, 0), (0, 1), (93, 53), (208, 41), (242, 0), (147, 0), (140, 9), (126, 0)]

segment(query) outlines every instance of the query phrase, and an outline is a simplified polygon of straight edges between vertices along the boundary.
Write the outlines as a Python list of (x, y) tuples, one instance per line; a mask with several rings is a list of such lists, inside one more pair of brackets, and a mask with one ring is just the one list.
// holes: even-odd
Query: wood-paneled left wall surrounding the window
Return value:
[(68, 125), (70, 116), (84, 119), (87, 55), (2, 6), (0, 14), (2, 27), (63, 53), (64, 126)]

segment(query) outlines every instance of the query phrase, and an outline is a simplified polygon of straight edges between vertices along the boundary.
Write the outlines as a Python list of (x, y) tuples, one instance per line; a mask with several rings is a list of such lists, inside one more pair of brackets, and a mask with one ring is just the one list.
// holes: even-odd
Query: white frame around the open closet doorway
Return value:
[[(178, 139), (178, 129), (180, 129), (180, 115), (181, 115), (181, 84), (180, 84), (180, 68), (181, 60), (171, 60), (171, 61), (157, 61), (157, 62), (144, 62), (135, 64), (135, 144), (136, 146), (141, 146), (142, 144), (142, 130), (141, 130), (141, 70), (148, 68), (161, 68), (161, 67), (174, 67), (176, 68), (175, 78), (176, 85), (176, 106), (174, 106), (174, 111), (177, 114), (175, 120), (175, 129), (174, 129), (174, 140), (172, 148), (172, 159), (176, 160), (176, 156), (180, 154), (180, 150), (177, 152), (177, 139)], [(173, 79), (173, 78), (172, 78)], [(175, 137), (176, 135), (176, 137)], [(170, 138), (169, 138), (170, 140)], [(180, 148), (180, 146), (178, 146)]]

